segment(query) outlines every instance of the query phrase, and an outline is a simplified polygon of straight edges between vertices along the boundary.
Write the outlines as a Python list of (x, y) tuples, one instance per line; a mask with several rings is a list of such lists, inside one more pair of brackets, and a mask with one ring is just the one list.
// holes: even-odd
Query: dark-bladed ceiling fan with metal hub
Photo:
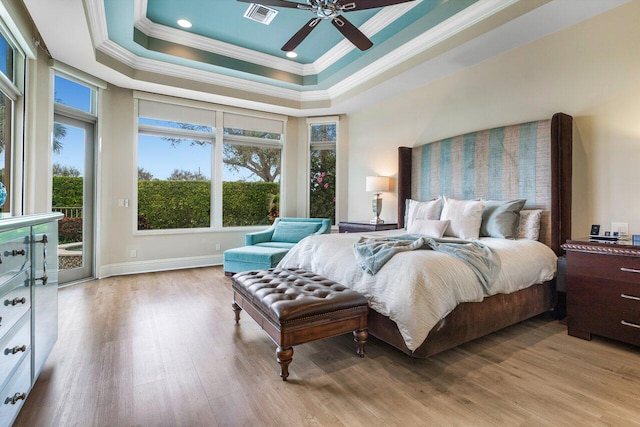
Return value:
[(293, 51), (311, 33), (318, 23), (330, 19), (334, 27), (338, 29), (351, 43), (360, 50), (367, 50), (373, 43), (362, 31), (342, 16), (343, 12), (374, 9), (376, 7), (391, 6), (399, 3), (407, 3), (414, 0), (307, 0), (306, 4), (291, 0), (238, 0), (243, 3), (258, 3), (264, 6), (287, 7), (292, 9), (309, 10), (316, 17), (312, 18), (304, 27), (293, 35), (282, 46), (285, 52)]

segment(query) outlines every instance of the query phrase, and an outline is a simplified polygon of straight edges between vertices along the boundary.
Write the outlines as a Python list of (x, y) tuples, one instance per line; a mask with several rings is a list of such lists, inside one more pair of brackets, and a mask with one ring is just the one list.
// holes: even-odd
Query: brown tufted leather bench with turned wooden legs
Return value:
[(293, 346), (353, 331), (357, 354), (367, 341), (367, 300), (345, 286), (306, 270), (247, 271), (232, 277), (236, 323), (246, 311), (278, 346), (283, 381)]

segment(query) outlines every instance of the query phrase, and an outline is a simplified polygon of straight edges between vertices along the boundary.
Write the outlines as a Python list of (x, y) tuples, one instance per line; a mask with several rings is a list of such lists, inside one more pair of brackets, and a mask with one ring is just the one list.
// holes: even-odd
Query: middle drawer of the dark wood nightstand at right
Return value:
[(640, 312), (640, 285), (576, 275), (567, 286), (567, 303), (574, 307), (603, 305)]

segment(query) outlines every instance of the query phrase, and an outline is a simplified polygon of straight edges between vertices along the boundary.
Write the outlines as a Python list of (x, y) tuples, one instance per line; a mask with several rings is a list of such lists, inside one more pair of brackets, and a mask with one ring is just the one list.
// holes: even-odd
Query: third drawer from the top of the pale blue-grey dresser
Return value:
[(10, 374), (31, 349), (31, 311), (27, 312), (0, 339), (0, 389), (7, 385)]

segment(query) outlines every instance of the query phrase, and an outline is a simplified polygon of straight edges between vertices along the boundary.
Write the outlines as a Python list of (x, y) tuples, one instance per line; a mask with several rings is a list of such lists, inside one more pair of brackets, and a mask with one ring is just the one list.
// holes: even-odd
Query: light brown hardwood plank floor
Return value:
[[(275, 345), (221, 268), (63, 288), (60, 336), (16, 426), (640, 425), (640, 351), (539, 317), (413, 360), (371, 338)], [(594, 315), (597, 315), (594, 313)]]

